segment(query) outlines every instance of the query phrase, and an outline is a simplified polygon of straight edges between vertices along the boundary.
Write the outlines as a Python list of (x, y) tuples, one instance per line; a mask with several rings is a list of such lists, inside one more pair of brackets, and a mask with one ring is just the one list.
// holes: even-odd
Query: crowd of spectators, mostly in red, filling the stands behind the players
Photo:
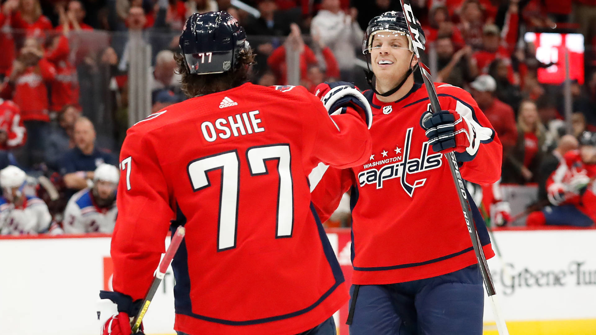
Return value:
[[(60, 194), (50, 212), (60, 221), (100, 163), (117, 165), (129, 126), (129, 33), (151, 46), (150, 114), (184, 99), (173, 53), (192, 13), (226, 10), (240, 21), (256, 51), (254, 83), (286, 85), (293, 52), (300, 85), (313, 91), (333, 80), (366, 89), (361, 45), (368, 21), (401, 8), (398, 0), (242, 2), (253, 10), (231, 0), (0, 1), (0, 163), (48, 177)], [(596, 0), (412, 5), (428, 54), (436, 55), (425, 59), (434, 80), (470, 91), (496, 129), (502, 183), (538, 183), (544, 196), (545, 166), (552, 169), (553, 157), (572, 148), (571, 138), (596, 130)], [(524, 42), (532, 31), (585, 36), (585, 84), (571, 83), (572, 131), (564, 123), (563, 86), (538, 80), (538, 70), (553, 63), (538, 61), (536, 46)]]

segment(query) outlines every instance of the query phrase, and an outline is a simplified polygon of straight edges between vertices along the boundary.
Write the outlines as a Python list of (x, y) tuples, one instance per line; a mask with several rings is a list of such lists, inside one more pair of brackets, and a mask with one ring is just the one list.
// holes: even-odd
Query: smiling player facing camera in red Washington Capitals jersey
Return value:
[[(467, 181), (490, 184), (501, 173), (501, 143), (461, 88), (434, 83), (443, 110), (429, 112), (402, 12), (373, 18), (362, 49), (373, 154), (363, 165), (328, 168), (311, 180), (322, 220), (352, 190), (350, 334), (482, 334), (482, 278), (444, 154), (456, 151)], [(470, 206), (491, 258), (485, 224)]]

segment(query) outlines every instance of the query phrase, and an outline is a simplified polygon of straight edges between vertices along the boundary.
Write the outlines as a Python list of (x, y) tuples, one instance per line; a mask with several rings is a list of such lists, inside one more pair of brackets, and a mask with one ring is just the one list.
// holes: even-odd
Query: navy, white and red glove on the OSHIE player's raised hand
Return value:
[(346, 107), (350, 107), (367, 123), (368, 129), (373, 125), (373, 111), (371, 110), (371, 106), (367, 98), (358, 91), (358, 88), (353, 83), (320, 83), (315, 88), (315, 95), (321, 98), (321, 102), (327, 108), (330, 115), (346, 113)]

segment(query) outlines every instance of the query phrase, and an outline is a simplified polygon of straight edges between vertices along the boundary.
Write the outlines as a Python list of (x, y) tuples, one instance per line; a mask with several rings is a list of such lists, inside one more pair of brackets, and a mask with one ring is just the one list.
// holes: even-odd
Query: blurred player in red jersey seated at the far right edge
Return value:
[(596, 134), (583, 132), (579, 144), (579, 150), (564, 154), (547, 180), (552, 206), (530, 213), (526, 225), (589, 227), (596, 222)]

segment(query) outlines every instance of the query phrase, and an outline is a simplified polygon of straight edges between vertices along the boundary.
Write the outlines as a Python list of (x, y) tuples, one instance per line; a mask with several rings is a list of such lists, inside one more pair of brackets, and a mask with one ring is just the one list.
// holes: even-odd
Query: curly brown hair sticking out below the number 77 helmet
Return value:
[(199, 95), (225, 91), (248, 82), (250, 66), (254, 64), (254, 53), (251, 48), (241, 50), (240, 57), (238, 57), (240, 66), (236, 70), (206, 75), (196, 75), (188, 72), (184, 55), (181, 52), (176, 52), (174, 59), (178, 63), (176, 73), (182, 76), (180, 80), (182, 92), (188, 98), (193, 98)]

